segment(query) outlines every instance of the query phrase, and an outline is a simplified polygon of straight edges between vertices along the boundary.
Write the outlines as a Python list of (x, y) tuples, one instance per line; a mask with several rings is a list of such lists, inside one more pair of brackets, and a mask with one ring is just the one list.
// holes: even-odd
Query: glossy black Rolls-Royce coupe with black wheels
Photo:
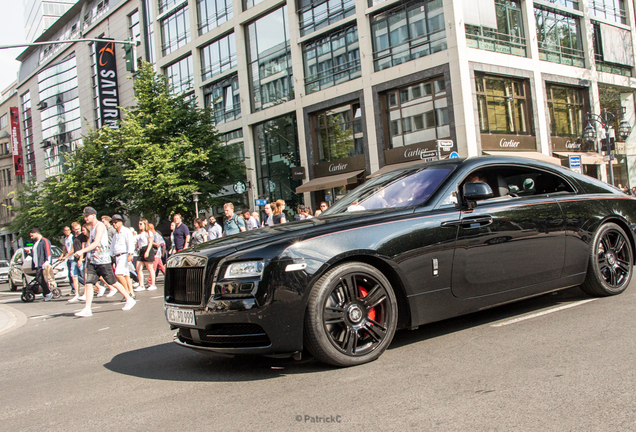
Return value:
[(636, 199), (515, 157), (452, 159), (371, 178), (319, 217), (168, 259), (166, 318), (200, 352), (352, 366), (395, 331), (580, 286), (622, 293)]

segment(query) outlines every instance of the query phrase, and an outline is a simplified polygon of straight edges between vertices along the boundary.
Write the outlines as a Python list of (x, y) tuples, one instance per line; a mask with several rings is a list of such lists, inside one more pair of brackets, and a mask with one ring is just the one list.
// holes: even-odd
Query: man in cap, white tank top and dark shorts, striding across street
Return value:
[(126, 289), (117, 282), (113, 273), (112, 261), (110, 259), (110, 248), (108, 245), (108, 234), (106, 226), (97, 219), (97, 212), (93, 207), (84, 207), (84, 220), (90, 226), (90, 237), (88, 245), (75, 252), (76, 257), (81, 257), (87, 253), (86, 263), (86, 306), (75, 315), (79, 317), (89, 317), (93, 315), (91, 306), (93, 303), (93, 285), (104, 278), (107, 284), (114, 286), (126, 298), (126, 305), (122, 310), (129, 310), (135, 306), (135, 299), (130, 297)]

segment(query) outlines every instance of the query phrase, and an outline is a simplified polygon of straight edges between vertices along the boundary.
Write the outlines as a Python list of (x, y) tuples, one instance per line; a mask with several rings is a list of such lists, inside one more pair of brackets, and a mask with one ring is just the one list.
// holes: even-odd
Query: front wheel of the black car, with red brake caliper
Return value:
[(373, 266), (349, 262), (325, 273), (309, 294), (305, 343), (318, 360), (335, 366), (373, 361), (397, 327), (395, 293)]

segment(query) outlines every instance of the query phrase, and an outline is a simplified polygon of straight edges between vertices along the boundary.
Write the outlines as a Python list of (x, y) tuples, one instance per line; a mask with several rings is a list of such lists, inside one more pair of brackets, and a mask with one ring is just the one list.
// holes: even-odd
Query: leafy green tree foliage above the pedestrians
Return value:
[(172, 95), (168, 78), (145, 63), (135, 78), (137, 106), (123, 109), (119, 129), (90, 130), (71, 154), (64, 174), (26, 184), (16, 193), (20, 207), (14, 231), (37, 226), (59, 236), (62, 226), (81, 220), (90, 205), (101, 214), (122, 213), (165, 219), (218, 204), (212, 195), (245, 173), (228, 157), (209, 108), (194, 97)]

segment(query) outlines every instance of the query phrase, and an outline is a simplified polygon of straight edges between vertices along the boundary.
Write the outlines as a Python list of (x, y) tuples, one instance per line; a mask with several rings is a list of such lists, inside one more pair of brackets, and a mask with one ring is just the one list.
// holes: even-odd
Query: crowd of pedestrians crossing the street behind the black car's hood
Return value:
[[(327, 209), (327, 203), (320, 203), (320, 210), (315, 216)], [(280, 199), (265, 205), (265, 217), (260, 221), (258, 212), (250, 212), (248, 208), (240, 213), (234, 212), (234, 205), (223, 206), (225, 220), (219, 224), (214, 216), (196, 218), (192, 232), (183, 223), (180, 214), (173, 216), (170, 224), (170, 247), (154, 225), (147, 219), (140, 219), (139, 231), (124, 226), (124, 217), (115, 214), (102, 215), (98, 219), (93, 207), (84, 208), (84, 221), (71, 223), (63, 229), (64, 252), (58, 258), (66, 260), (71, 295), (69, 303), (84, 302), (84, 308), (75, 315), (90, 317), (93, 315), (94, 297), (102, 297), (106, 288), (110, 289), (106, 297), (113, 297), (118, 292), (125, 302), (123, 310), (130, 310), (136, 304), (135, 292), (156, 290), (156, 277), (159, 272), (165, 274), (166, 258), (176, 252), (209, 240), (238, 234), (253, 229), (287, 223), (285, 201)], [(299, 205), (295, 220), (314, 217), (311, 208)], [(42, 287), (44, 301), (50, 301), (53, 294), (49, 288), (45, 270), (51, 265), (51, 243), (42, 237), (37, 228), (29, 231), (34, 241), (32, 248), (33, 264), (36, 280)], [(147, 278), (144, 278), (145, 273)], [(84, 293), (80, 295), (80, 285)]]

